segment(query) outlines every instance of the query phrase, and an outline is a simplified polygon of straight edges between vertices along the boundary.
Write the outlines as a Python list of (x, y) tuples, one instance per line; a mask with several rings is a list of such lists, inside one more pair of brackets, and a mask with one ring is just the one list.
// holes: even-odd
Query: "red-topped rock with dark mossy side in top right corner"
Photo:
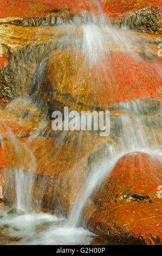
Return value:
[(103, 1), (103, 10), (114, 25), (124, 29), (161, 33), (161, 2)]

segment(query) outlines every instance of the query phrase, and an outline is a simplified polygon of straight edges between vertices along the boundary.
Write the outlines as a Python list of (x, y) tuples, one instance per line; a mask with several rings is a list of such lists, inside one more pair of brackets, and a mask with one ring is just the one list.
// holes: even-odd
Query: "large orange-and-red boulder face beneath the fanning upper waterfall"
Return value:
[(110, 51), (104, 69), (100, 64), (89, 68), (81, 52), (58, 50), (49, 60), (48, 81), (42, 90), (49, 87), (44, 95), (53, 111), (58, 102), (85, 111), (89, 106), (106, 108), (139, 96), (161, 101), (161, 78), (154, 68), (161, 64), (160, 58), (144, 60), (140, 53)]

